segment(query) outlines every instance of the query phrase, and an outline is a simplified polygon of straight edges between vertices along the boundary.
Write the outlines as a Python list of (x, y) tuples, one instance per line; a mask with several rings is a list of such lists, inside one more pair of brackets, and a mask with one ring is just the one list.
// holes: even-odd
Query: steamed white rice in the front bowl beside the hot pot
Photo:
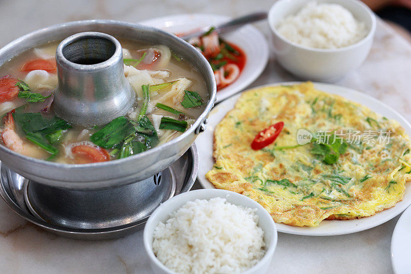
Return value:
[(153, 251), (178, 273), (245, 271), (265, 254), (256, 210), (219, 197), (188, 202), (155, 228)]

